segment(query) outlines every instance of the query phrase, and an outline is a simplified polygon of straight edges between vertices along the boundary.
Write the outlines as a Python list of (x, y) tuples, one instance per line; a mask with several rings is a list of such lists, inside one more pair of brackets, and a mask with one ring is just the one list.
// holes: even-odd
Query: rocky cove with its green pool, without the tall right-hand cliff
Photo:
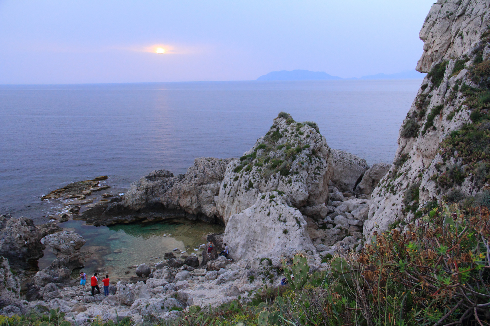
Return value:
[[(102, 316), (100, 309), (110, 311), (104, 319), (117, 309), (139, 321), (238, 296), (246, 302), (281, 282), (284, 258), (300, 252), (312, 270), (324, 270), (328, 257), (359, 249), (368, 196), (389, 167), (332, 150), (315, 123), (280, 113), (240, 158), (196, 158), (184, 175), (154, 171), (125, 194), (98, 198), (110, 179), (75, 182), (42, 198), (67, 207), (46, 224), (2, 216), (1, 254), (21, 281), (3, 312), (60, 307), (80, 325)], [(35, 253), (27, 250), (34, 243)], [(223, 243), (228, 259), (218, 256)], [(23, 251), (30, 255), (19, 259)], [(40, 268), (34, 275), (33, 262)], [(92, 297), (76, 285), (81, 267), (109, 273), (111, 295)]]

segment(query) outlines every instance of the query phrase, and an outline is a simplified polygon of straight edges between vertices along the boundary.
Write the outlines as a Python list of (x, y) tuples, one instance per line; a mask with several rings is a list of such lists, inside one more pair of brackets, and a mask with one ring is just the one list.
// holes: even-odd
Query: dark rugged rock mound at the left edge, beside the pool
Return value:
[(41, 238), (32, 219), (0, 215), (0, 256), (9, 259), (11, 265), (43, 257), (46, 247), (39, 241)]

